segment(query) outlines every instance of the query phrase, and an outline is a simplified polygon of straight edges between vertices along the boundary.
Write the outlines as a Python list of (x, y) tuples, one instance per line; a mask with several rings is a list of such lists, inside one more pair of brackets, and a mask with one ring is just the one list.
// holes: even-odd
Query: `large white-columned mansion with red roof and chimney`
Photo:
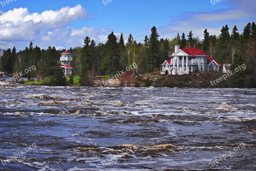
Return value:
[(188, 74), (189, 71), (194, 72), (199, 70), (206, 71), (219, 71), (221, 64), (212, 58), (204, 51), (196, 47), (185, 47), (180, 49), (180, 46), (175, 46), (175, 52), (170, 55), (170, 60), (165, 60), (161, 64), (160, 72), (165, 73), (169, 71), (172, 75)]

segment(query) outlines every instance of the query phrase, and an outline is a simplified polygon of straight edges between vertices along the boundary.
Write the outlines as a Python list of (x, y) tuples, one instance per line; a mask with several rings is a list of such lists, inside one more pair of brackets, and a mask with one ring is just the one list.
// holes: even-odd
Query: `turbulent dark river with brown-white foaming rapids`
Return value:
[(1, 86), (1, 171), (255, 171), (255, 89)]

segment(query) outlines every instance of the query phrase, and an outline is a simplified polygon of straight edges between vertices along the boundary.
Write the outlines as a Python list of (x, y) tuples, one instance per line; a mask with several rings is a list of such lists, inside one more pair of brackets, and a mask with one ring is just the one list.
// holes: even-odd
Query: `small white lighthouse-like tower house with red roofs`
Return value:
[(70, 52), (65, 51), (61, 53), (60, 68), (63, 68), (64, 75), (71, 75), (71, 73), (73, 72), (73, 67), (70, 66), (71, 61), (73, 61), (73, 58)]

